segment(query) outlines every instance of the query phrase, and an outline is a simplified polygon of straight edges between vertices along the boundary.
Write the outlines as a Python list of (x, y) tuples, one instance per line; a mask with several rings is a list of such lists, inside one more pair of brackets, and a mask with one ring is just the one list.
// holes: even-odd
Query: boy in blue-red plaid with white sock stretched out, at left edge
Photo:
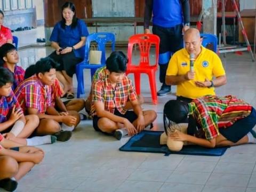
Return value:
[(37, 115), (24, 116), (12, 91), (12, 83), (12, 73), (9, 69), (0, 67), (0, 133), (6, 139), (22, 145), (35, 146), (55, 142), (56, 138), (50, 135), (26, 139), (35, 131), (39, 118)]

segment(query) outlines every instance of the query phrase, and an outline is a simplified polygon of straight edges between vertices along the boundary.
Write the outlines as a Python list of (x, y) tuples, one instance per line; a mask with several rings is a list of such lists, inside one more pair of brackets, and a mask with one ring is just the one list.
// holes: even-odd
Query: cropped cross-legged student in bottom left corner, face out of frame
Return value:
[(20, 143), (4, 139), (0, 133), (0, 188), (14, 191), (18, 180), (42, 161), (44, 151), (23, 147)]

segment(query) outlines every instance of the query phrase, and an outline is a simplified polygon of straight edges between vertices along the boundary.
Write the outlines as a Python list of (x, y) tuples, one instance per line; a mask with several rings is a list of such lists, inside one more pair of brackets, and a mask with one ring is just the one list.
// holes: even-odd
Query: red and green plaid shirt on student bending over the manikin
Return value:
[(218, 137), (219, 129), (233, 125), (238, 119), (251, 114), (252, 106), (232, 95), (217, 97), (206, 95), (194, 99), (189, 106), (189, 115), (192, 115), (197, 124), (205, 133), (207, 140)]

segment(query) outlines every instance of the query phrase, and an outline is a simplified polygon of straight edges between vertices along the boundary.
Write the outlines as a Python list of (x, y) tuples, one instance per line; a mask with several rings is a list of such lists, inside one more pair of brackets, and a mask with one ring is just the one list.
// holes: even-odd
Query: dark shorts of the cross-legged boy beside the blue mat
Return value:
[[(121, 114), (117, 109), (115, 109), (114, 115), (117, 115), (119, 117), (124, 117), (124, 118), (128, 119), (131, 123), (133, 123), (138, 118), (138, 116), (134, 113), (134, 111), (126, 111), (125, 114)], [(99, 121), (100, 118), (101, 117), (98, 117), (97, 115), (93, 116), (92, 125), (93, 125), (94, 130), (95, 131), (100, 131), (100, 132), (108, 134), (108, 135), (111, 135), (109, 133), (103, 132), (98, 127), (98, 121)]]

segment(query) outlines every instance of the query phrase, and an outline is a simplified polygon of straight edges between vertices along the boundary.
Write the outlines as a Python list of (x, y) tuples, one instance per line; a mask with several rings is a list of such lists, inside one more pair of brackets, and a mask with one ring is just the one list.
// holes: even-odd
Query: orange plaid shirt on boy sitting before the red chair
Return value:
[(121, 113), (125, 114), (127, 99), (130, 101), (137, 100), (137, 94), (132, 85), (131, 79), (124, 76), (122, 81), (113, 87), (108, 79), (108, 76), (95, 82), (92, 85), (92, 108), (91, 115), (97, 115), (94, 107), (95, 102), (104, 103), (105, 110), (114, 114), (115, 108)]

